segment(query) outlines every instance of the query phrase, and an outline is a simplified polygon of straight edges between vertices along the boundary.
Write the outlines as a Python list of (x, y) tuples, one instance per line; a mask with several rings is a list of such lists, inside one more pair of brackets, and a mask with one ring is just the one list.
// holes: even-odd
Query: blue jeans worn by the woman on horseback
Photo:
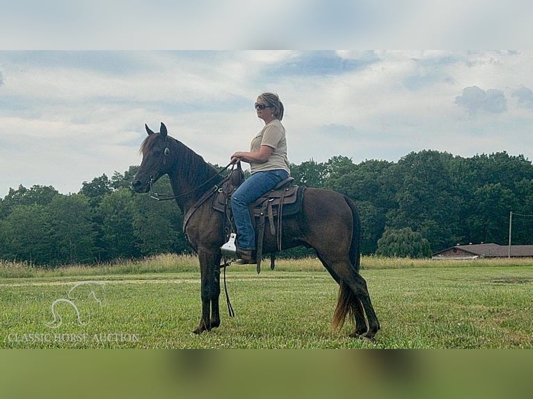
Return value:
[(237, 247), (239, 250), (255, 250), (255, 231), (248, 205), (272, 190), (289, 174), (286, 170), (255, 172), (246, 179), (231, 197), (231, 209), (237, 227)]

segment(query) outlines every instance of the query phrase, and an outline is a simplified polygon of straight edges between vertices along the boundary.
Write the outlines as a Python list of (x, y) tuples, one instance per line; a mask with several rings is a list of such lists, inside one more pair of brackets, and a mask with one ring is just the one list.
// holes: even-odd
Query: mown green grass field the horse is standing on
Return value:
[[(317, 259), (278, 260), (275, 270), (265, 262), (260, 275), (255, 266), (230, 266), (227, 284), (236, 317), (228, 316), (223, 291), (221, 327), (200, 336), (191, 333), (201, 309), (194, 257), (54, 270), (0, 263), (0, 343), (2, 348), (533, 348), (532, 259), (364, 257), (362, 265), (381, 323), (374, 341), (350, 339), (351, 325), (331, 330), (338, 286)], [(79, 318), (67, 300), (76, 304)], [(61, 325), (57, 318), (51, 323), (52, 304)]]

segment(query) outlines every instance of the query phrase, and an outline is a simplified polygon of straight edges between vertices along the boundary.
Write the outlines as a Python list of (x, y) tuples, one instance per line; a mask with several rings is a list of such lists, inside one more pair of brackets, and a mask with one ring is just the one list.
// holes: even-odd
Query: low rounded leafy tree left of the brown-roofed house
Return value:
[(429, 241), (422, 234), (404, 229), (385, 229), (385, 233), (378, 241), (376, 255), (400, 258), (427, 258), (431, 257)]

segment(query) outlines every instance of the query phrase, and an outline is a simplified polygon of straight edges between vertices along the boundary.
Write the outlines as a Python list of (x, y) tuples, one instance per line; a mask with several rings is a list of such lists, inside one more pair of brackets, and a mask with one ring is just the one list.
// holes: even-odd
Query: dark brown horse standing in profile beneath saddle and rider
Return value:
[[(170, 178), (174, 199), (186, 215), (184, 233), (200, 262), (202, 316), (195, 334), (221, 325), (218, 298), (221, 293), (221, 245), (227, 239), (224, 216), (212, 208), (212, 201), (198, 203), (207, 190), (215, 193), (223, 177), (202, 156), (179, 140), (168, 136), (164, 123), (159, 132), (147, 124), (148, 137), (141, 144), (141, 165), (132, 181), (136, 193), (149, 193), (152, 184), (165, 174)], [(257, 234), (256, 234), (257, 237)], [(302, 211), (283, 218), (281, 243), (284, 249), (311, 247), (339, 284), (337, 306), (331, 326), (340, 329), (348, 317), (355, 322), (353, 337), (373, 339), (379, 320), (372, 306), (365, 279), (360, 275), (361, 228), (354, 202), (333, 190), (305, 188)], [(263, 253), (278, 252), (271, 234), (264, 234)], [(365, 314), (368, 320), (365, 320)]]

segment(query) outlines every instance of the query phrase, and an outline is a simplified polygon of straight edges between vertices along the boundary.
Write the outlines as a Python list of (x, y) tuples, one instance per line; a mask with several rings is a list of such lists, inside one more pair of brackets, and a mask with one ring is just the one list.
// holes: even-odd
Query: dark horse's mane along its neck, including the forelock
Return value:
[[(141, 144), (140, 152), (150, 151), (155, 140), (160, 133), (150, 134)], [(200, 194), (215, 184), (221, 182), (222, 177), (214, 177), (218, 173), (214, 166), (204, 161), (202, 156), (196, 154), (192, 149), (184, 145), (181, 141), (168, 136), (168, 141), (175, 143), (175, 149), (170, 150), (170, 156), (177, 158), (177, 173), (191, 183), (193, 187), (199, 187), (207, 180), (212, 179), (209, 184), (200, 188)]]

